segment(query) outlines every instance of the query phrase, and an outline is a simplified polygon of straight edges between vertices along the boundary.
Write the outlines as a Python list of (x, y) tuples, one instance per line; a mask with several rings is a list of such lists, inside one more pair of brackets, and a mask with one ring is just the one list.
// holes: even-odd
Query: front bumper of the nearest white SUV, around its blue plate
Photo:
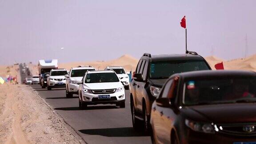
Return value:
[[(99, 99), (100, 95), (110, 95), (110, 99)], [(125, 101), (125, 92), (115, 92), (111, 94), (92, 94), (82, 92), (82, 99), (86, 104), (118, 104)]]

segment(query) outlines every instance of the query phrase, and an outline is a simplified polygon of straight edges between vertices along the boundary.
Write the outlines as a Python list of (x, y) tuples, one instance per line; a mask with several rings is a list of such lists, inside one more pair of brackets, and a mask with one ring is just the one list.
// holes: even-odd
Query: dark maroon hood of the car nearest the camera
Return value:
[(213, 123), (256, 122), (256, 104), (214, 104), (185, 107), (188, 119)]

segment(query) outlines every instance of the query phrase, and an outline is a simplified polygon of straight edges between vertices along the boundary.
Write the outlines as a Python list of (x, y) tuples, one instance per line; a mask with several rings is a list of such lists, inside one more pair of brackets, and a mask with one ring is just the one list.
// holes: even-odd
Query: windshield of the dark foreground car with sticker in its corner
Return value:
[(188, 80), (184, 84), (185, 105), (256, 101), (256, 78)]

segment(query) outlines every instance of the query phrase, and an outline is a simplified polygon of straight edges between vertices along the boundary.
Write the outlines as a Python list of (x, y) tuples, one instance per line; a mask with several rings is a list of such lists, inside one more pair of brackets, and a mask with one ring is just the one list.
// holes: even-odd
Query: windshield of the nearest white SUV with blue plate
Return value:
[(109, 83), (119, 82), (118, 77), (114, 72), (106, 73), (89, 73), (86, 75), (84, 83)]

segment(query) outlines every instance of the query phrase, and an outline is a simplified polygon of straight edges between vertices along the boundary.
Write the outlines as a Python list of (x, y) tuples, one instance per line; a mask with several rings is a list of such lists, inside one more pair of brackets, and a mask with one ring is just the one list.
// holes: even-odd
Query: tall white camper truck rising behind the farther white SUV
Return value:
[[(58, 60), (39, 60), (38, 61), (38, 74), (39, 81), (41, 82), (44, 77), (44, 73), (50, 72), (52, 69), (58, 68)], [(40, 83), (42, 86), (42, 84)]]

